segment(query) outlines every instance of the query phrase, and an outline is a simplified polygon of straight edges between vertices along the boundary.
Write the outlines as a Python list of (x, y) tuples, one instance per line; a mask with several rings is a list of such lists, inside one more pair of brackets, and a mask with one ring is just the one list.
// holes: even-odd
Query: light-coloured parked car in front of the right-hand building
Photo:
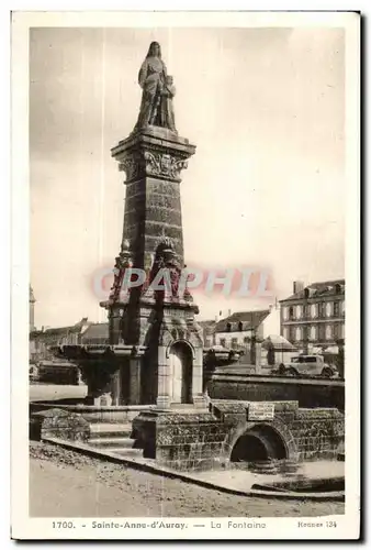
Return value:
[(272, 374), (280, 376), (322, 376), (325, 378), (338, 377), (335, 365), (325, 362), (322, 355), (297, 355), (288, 363), (281, 363)]

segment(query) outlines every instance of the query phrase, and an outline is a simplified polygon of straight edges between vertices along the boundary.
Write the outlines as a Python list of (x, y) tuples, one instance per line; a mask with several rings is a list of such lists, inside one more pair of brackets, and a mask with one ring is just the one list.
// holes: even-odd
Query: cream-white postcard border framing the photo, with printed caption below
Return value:
[[(360, 121), (359, 44), (360, 20), (353, 13), (255, 12), (246, 20), (241, 13), (15, 13), (12, 29), (12, 537), (20, 539), (353, 539), (359, 534), (360, 505)], [(29, 517), (29, 36), (30, 26), (345, 26), (347, 52), (347, 385), (346, 385), (346, 514), (321, 518), (336, 520), (331, 529), (300, 528), (297, 524), (314, 518), (245, 518), (247, 522), (266, 522), (263, 529), (229, 529), (227, 522), (240, 518), (202, 518), (209, 526), (195, 528), (143, 530), (93, 529), (98, 518), (75, 518), (76, 527), (58, 531), (53, 521), (66, 518)], [(151, 522), (155, 518), (146, 518)], [(160, 518), (159, 518), (160, 519)], [(112, 518), (117, 521), (117, 518)], [(130, 519), (120, 520), (125, 522)], [(111, 521), (111, 519), (104, 519)], [(132, 519), (140, 522), (140, 518)], [(194, 524), (194, 519), (171, 518), (167, 522)], [(214, 529), (211, 521), (225, 528)], [(87, 527), (81, 527), (86, 525)], [(216, 532), (215, 532), (216, 531)]]

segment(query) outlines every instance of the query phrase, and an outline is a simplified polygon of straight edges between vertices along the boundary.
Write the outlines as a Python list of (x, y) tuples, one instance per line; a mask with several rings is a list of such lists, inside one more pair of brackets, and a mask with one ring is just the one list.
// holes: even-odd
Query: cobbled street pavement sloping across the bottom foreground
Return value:
[(344, 514), (344, 503), (240, 497), (30, 443), (32, 517), (273, 517)]

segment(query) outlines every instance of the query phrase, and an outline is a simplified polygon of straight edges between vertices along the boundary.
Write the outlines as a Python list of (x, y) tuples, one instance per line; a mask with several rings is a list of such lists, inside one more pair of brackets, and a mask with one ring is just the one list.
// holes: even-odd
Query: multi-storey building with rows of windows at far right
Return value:
[(281, 336), (304, 353), (338, 353), (345, 340), (345, 279), (294, 282), (293, 294), (280, 300)]

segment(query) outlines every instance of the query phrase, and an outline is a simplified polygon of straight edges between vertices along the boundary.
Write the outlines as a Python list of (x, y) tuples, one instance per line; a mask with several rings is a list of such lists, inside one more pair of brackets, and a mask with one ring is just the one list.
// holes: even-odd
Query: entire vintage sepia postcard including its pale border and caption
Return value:
[(359, 13), (11, 47), (12, 537), (358, 539)]

